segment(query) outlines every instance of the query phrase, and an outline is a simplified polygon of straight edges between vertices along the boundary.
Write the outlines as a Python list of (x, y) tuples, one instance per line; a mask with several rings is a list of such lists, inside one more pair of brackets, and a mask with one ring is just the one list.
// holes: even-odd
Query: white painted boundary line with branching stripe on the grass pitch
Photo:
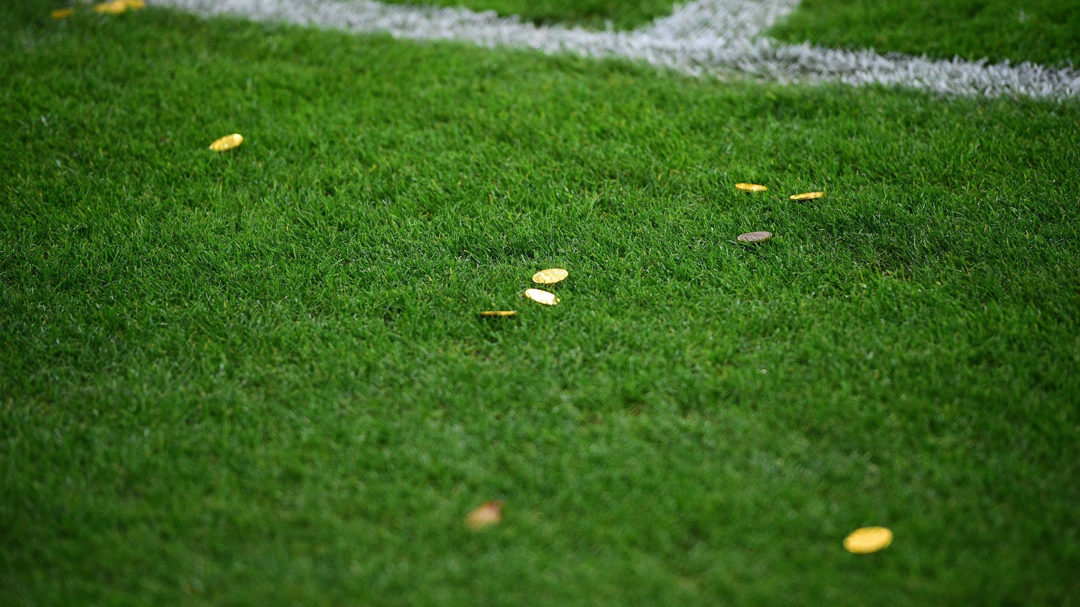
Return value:
[(901, 85), (957, 95), (1080, 95), (1080, 70), (1024, 63), (940, 60), (783, 44), (759, 36), (799, 0), (694, 0), (633, 31), (537, 26), (494, 12), (372, 0), (150, 0), (201, 15), (232, 14), (416, 40), (457, 40), (544, 53), (643, 59), (693, 76), (741, 72), (780, 82)]

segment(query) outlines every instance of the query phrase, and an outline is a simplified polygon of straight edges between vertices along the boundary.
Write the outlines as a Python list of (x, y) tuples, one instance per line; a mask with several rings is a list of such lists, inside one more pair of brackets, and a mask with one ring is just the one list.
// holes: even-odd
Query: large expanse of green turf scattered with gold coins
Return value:
[(0, 603), (1077, 604), (1075, 102), (48, 8)]

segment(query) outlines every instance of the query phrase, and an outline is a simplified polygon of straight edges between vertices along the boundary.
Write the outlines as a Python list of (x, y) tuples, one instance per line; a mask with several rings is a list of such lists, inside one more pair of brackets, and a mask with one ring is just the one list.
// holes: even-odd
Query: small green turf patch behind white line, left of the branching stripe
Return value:
[(517, 15), (537, 24), (568, 24), (591, 28), (633, 29), (669, 15), (670, 0), (388, 0), (400, 4), (464, 6)]

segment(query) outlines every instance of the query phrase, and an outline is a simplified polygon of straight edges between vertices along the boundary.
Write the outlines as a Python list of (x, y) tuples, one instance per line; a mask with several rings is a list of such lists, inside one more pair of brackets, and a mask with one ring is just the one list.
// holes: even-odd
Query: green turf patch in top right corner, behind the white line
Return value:
[(1080, 67), (1080, 0), (804, 0), (787, 42)]

